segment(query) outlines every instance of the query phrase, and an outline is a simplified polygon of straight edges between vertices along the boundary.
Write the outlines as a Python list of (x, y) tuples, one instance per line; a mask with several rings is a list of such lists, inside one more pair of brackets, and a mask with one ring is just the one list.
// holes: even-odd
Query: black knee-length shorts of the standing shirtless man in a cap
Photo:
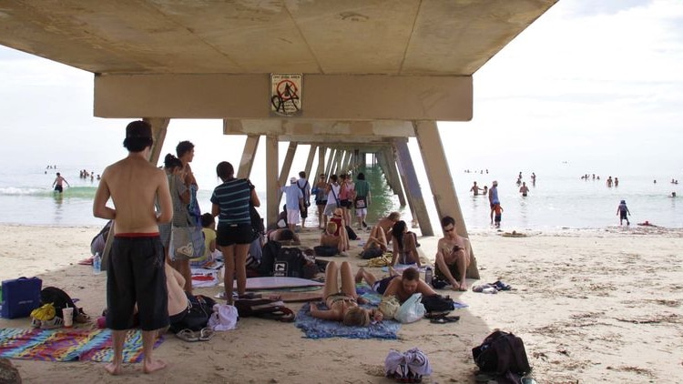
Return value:
[(142, 330), (168, 326), (165, 257), (158, 234), (116, 236), (109, 256), (107, 328), (133, 328), (136, 303)]

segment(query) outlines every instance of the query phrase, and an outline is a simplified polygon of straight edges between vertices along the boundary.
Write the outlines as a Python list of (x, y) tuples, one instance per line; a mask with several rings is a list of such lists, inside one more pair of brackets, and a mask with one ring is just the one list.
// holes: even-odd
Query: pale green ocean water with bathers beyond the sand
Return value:
[[(100, 172), (104, 165), (89, 165), (87, 169)], [(104, 220), (92, 216), (92, 200), (97, 188), (94, 180), (78, 177), (83, 167), (59, 167), (46, 169), (44, 166), (22, 166), (22, 170), (5, 167), (0, 170), (0, 222), (25, 225), (89, 226), (104, 225)], [(61, 172), (70, 183), (63, 194), (55, 193), (51, 187), (55, 172)], [(207, 172), (210, 175), (212, 170)], [(195, 174), (202, 170), (195, 169)], [(368, 221), (374, 222), (387, 212), (398, 210), (404, 220), (412, 219), (408, 207), (400, 207), (398, 197), (383, 181), (379, 168), (365, 169), (372, 185), (372, 206)], [(515, 184), (516, 172), (466, 173), (452, 169), (454, 186), (463, 210), (465, 224), (469, 231), (490, 231), (489, 203), (487, 197), (474, 197), (469, 192), (473, 181), (480, 187), (499, 183), (499, 197), (504, 209), (501, 228), (503, 230), (558, 230), (562, 228), (601, 228), (618, 226), (617, 205), (626, 200), (632, 216), (631, 225), (649, 221), (661, 227), (683, 227), (683, 190), (671, 184), (670, 175), (655, 177), (611, 175), (619, 178), (618, 187), (607, 187), (608, 175), (599, 175), (600, 180), (580, 179), (583, 173), (577, 169), (558, 169), (552, 174), (537, 174), (532, 185), (529, 175), (523, 173), (523, 180), (530, 189), (528, 197), (521, 197)], [(423, 198), (432, 218), (436, 234), (438, 217), (426, 177), (418, 174), (423, 187)], [(654, 180), (657, 183), (654, 183)], [(683, 181), (683, 179), (681, 180)], [(265, 213), (265, 182), (252, 179), (260, 195), (262, 215)], [(199, 206), (203, 211), (210, 209), (211, 191), (218, 182), (215, 177), (200, 179)], [(678, 197), (669, 197), (676, 192)], [(282, 204), (282, 203), (280, 203)], [(317, 224), (316, 207), (309, 211), (309, 226)], [(626, 224), (626, 223), (625, 223)]]

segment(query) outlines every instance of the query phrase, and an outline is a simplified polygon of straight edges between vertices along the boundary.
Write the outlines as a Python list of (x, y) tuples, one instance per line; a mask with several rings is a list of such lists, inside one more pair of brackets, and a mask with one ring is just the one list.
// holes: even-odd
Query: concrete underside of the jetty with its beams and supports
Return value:
[(248, 136), (240, 176), (265, 136), (269, 220), (288, 141), (292, 153), (333, 152), (326, 172), (376, 154), (433, 235), (415, 137), (437, 215), (467, 236), (436, 122), (472, 119), (474, 73), (556, 1), (5, 1), (0, 44), (93, 73), (94, 115), (150, 121), (155, 164), (172, 118), (218, 118)]

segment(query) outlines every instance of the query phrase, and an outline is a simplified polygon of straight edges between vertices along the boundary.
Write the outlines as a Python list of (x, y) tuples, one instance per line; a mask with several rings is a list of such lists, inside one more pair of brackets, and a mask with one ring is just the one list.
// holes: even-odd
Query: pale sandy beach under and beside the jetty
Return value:
[[(37, 276), (63, 288), (94, 317), (105, 307), (105, 274), (77, 261), (89, 256), (99, 227), (0, 225), (0, 279)], [(470, 235), (481, 280), (501, 279), (512, 291), (497, 295), (442, 290), (469, 308), (459, 322), (405, 324), (397, 340), (304, 339), (293, 324), (243, 318), (239, 328), (209, 342), (187, 343), (168, 334), (155, 356), (168, 369), (152, 375), (127, 365), (122, 378), (104, 365), (13, 359), (25, 382), (377, 383), (389, 349), (417, 347), (433, 375), (425, 383), (474, 382), (471, 349), (494, 328), (525, 341), (539, 383), (683, 382), (683, 230), (608, 227), (503, 237)], [(362, 237), (367, 237), (363, 234)], [(312, 246), (317, 231), (303, 234)], [(433, 260), (436, 237), (420, 251)], [(358, 241), (352, 241), (354, 266)], [(372, 268), (382, 276), (380, 268)], [(213, 296), (215, 288), (196, 289)], [(290, 303), (297, 310), (301, 303)], [(29, 319), (0, 319), (0, 328), (28, 328)], [(91, 324), (83, 327), (92, 327)]]

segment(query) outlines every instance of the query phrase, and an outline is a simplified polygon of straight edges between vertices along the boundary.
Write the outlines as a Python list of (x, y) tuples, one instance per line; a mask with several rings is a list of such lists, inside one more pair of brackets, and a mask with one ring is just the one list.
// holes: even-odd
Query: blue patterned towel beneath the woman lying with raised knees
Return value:
[(339, 321), (313, 318), (309, 303), (299, 310), (296, 326), (301, 328), (307, 339), (398, 339), (396, 333), (401, 328), (401, 324), (393, 320), (384, 320), (370, 327), (349, 327)]

